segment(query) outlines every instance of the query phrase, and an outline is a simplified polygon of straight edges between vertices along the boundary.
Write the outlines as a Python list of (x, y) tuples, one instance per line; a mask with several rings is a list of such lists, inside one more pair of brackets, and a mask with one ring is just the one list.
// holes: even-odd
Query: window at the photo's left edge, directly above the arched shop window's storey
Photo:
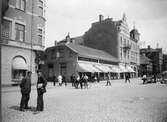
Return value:
[(1, 29), (2, 29), (1, 37), (10, 39), (12, 33), (12, 22), (8, 20), (3, 20)]

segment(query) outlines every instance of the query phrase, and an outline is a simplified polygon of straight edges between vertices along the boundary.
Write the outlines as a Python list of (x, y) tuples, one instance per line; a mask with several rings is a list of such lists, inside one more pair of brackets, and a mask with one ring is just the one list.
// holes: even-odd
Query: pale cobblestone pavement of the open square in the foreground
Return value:
[(3, 122), (167, 122), (167, 85), (142, 85), (114, 80), (90, 84), (88, 89), (53, 87), (48, 84), (44, 111), (36, 113), (36, 90), (32, 87), (29, 105), (20, 112), (18, 87), (2, 88)]

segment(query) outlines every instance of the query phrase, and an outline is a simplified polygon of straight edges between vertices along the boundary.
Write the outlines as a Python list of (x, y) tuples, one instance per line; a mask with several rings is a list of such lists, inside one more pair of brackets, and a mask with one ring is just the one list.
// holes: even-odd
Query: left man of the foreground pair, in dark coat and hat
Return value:
[(28, 107), (28, 101), (30, 99), (31, 92), (31, 72), (27, 71), (26, 76), (22, 78), (20, 83), (21, 88), (21, 102), (20, 102), (20, 111), (24, 111), (24, 109), (30, 109)]

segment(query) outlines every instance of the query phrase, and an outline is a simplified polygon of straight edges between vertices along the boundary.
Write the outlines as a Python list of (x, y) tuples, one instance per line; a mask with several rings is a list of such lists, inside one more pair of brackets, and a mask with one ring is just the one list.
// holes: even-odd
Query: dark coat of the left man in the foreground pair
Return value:
[(31, 79), (25, 77), (22, 79), (20, 83), (21, 93), (29, 94), (31, 92)]

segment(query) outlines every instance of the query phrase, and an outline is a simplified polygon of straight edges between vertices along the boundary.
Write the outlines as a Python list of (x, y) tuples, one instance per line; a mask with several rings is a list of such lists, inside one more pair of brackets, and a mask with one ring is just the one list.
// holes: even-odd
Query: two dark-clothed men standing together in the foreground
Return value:
[[(38, 80), (37, 80), (37, 107), (36, 111), (44, 110), (44, 101), (43, 94), (46, 92), (47, 81), (42, 75), (41, 71), (38, 71)], [(25, 111), (25, 109), (31, 109), (28, 106), (31, 93), (31, 72), (27, 71), (25, 77), (21, 80), (20, 83), (21, 89), (21, 102), (20, 102), (20, 111)]]

